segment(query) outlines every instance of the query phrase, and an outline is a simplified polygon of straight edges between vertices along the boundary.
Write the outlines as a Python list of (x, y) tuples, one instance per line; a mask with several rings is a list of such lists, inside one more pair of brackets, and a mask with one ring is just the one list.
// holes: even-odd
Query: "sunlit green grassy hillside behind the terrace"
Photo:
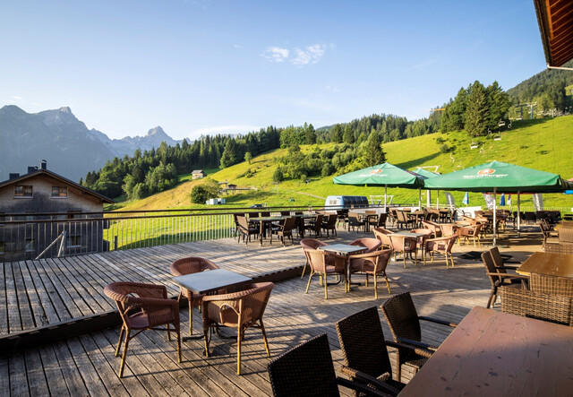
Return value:
[[(429, 134), (383, 145), (387, 160), (401, 168), (439, 166), (442, 174), (457, 169), (472, 167), (491, 160), (505, 161), (523, 167), (540, 169), (573, 177), (573, 162), (570, 160), (570, 140), (573, 137), (573, 116), (554, 119), (514, 121), (511, 129), (502, 130), (500, 140), (494, 135), (477, 138), (465, 132), (449, 134)], [(329, 143), (328, 145), (333, 145)], [(470, 149), (470, 146), (478, 147)], [(312, 151), (325, 145), (304, 145), (303, 151)], [(285, 181), (279, 185), (272, 183), (272, 174), (278, 166), (278, 159), (286, 155), (286, 150), (270, 151), (246, 162), (222, 170), (212, 169), (209, 177), (218, 182), (227, 181), (240, 188), (235, 194), (222, 194), (227, 199), (226, 206), (248, 206), (252, 203), (267, 205), (312, 205), (321, 206), (329, 194), (384, 194), (381, 187), (339, 186), (332, 183), (332, 177), (312, 178), (309, 183)], [(430, 169), (430, 168), (429, 168)], [(248, 171), (251, 172), (248, 172)], [(432, 168), (433, 170), (433, 168)], [(201, 181), (183, 182), (174, 189), (155, 194), (146, 199), (125, 203), (123, 210), (151, 210), (167, 208), (189, 208), (192, 186)], [(404, 188), (388, 189), (394, 195), (393, 203), (417, 203), (418, 192)], [(456, 203), (461, 205), (463, 192), (452, 192)], [(549, 207), (573, 207), (573, 195), (543, 194), (544, 203)], [(422, 202), (425, 203), (425, 192)], [(440, 194), (440, 203), (445, 203), (445, 195)], [(517, 202), (517, 200), (516, 200)], [(435, 192), (432, 192), (435, 203)], [(515, 202), (514, 202), (515, 204)], [(523, 205), (531, 205), (529, 197), (523, 197)], [(469, 205), (484, 205), (481, 194), (470, 194)], [(193, 207), (201, 207), (193, 205)], [(205, 208), (212, 206), (204, 206)], [(219, 206), (220, 207), (220, 206)]]

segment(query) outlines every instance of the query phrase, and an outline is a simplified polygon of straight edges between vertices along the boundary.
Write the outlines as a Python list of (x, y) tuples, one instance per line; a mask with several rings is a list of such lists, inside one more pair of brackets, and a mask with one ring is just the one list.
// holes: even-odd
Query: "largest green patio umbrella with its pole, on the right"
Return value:
[[(428, 178), (423, 183), (426, 189), (493, 192), (494, 196), (497, 193), (559, 193), (573, 188), (573, 184), (557, 174), (500, 161), (492, 161), (450, 172), (440, 177)], [(494, 204), (494, 225), (495, 212)], [(495, 246), (495, 228), (493, 228), (493, 245)]]

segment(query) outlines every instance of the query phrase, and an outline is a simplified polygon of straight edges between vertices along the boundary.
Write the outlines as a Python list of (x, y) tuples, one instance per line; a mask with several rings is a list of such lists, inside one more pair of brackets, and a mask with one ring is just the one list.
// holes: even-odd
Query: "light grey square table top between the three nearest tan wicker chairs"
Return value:
[(252, 281), (243, 274), (228, 271), (227, 269), (213, 269), (205, 272), (185, 274), (173, 279), (185, 289), (194, 294), (207, 294), (218, 289), (239, 286)]

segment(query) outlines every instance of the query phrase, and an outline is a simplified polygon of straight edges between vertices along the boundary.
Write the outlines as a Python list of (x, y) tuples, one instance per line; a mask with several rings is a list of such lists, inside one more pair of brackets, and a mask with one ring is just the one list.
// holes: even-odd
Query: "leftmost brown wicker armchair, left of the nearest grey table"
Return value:
[[(137, 334), (144, 330), (167, 331), (177, 338), (177, 361), (181, 362), (181, 333), (179, 332), (179, 303), (167, 298), (167, 288), (163, 285), (142, 284), (139, 282), (112, 282), (104, 288), (107, 297), (115, 300), (119, 315), (124, 324), (119, 332), (115, 357), (119, 355), (125, 333), (124, 353), (119, 367), (119, 377), (124, 375), (127, 346)], [(173, 324), (173, 328), (169, 325)], [(166, 328), (159, 328), (166, 325)], [(132, 335), (132, 332), (133, 333)]]

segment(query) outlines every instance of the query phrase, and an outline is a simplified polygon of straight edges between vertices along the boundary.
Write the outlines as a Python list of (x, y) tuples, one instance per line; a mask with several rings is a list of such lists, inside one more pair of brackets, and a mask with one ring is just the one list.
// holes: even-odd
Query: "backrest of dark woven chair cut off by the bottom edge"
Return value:
[(339, 395), (326, 333), (286, 351), (269, 362), (268, 369), (277, 397)]

